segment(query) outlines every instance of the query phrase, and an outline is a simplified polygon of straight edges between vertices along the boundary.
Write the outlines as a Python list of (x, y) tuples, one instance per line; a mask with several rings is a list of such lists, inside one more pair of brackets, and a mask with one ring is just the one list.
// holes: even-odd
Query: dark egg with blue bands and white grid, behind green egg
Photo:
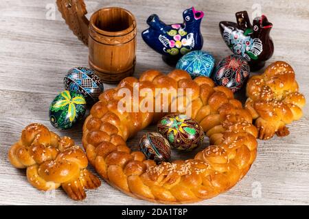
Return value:
[(86, 67), (71, 68), (64, 79), (65, 90), (79, 92), (84, 96), (88, 105), (98, 101), (104, 86), (94, 70)]

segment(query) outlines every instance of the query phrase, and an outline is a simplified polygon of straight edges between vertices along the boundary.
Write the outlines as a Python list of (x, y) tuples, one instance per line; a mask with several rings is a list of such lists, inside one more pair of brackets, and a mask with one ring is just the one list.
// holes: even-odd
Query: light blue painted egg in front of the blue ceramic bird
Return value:
[(176, 68), (186, 70), (192, 79), (198, 76), (211, 75), (214, 69), (215, 59), (214, 57), (205, 51), (191, 51), (181, 57), (177, 62)]

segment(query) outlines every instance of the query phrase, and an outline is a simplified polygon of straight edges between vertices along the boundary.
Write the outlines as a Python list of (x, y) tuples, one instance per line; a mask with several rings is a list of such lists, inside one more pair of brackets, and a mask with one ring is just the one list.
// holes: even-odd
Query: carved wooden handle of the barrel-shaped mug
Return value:
[(84, 0), (57, 0), (58, 10), (73, 34), (88, 45), (89, 20)]

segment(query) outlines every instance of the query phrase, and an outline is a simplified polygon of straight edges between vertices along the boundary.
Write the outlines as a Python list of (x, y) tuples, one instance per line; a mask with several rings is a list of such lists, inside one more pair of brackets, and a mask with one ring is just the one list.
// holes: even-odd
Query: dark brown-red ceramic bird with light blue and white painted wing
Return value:
[(222, 38), (236, 55), (242, 55), (251, 70), (259, 70), (273, 55), (273, 40), (269, 36), (272, 23), (262, 15), (253, 19), (251, 25), (246, 11), (236, 13), (237, 23), (221, 21), (219, 24)]

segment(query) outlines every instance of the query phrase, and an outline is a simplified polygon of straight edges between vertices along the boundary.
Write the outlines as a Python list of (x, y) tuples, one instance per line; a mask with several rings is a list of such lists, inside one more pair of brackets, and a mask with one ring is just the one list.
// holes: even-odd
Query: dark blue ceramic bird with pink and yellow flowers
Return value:
[(141, 36), (149, 47), (163, 55), (165, 62), (175, 65), (185, 53), (202, 49), (203, 16), (204, 12), (192, 7), (183, 12), (183, 23), (166, 25), (157, 14), (152, 14), (147, 20), (150, 27)]

